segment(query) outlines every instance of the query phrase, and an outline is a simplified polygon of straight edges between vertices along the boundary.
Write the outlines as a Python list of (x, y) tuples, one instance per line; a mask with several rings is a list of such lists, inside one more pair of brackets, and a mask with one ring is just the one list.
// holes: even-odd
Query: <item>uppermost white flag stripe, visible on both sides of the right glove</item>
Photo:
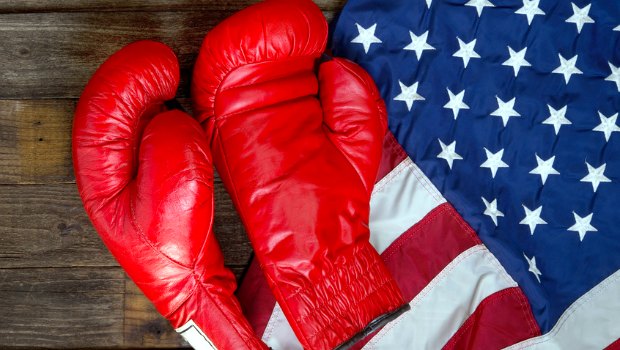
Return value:
[[(370, 198), (370, 243), (383, 252), (401, 234), (446, 200), (409, 157), (379, 181)], [(301, 349), (276, 303), (263, 341), (273, 349)]]

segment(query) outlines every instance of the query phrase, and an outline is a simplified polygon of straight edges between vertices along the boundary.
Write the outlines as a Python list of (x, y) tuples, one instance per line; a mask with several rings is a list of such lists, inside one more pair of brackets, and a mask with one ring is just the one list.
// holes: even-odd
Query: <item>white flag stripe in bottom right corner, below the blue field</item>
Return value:
[(577, 299), (551, 331), (508, 349), (603, 349), (620, 339), (620, 270)]

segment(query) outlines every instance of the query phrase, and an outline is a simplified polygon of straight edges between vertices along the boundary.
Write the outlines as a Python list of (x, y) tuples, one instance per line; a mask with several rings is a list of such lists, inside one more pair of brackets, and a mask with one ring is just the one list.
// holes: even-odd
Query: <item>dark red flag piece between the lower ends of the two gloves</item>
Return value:
[(237, 290), (237, 298), (254, 332), (262, 337), (273, 308), (276, 306), (276, 299), (267, 285), (257, 259), (252, 259), (243, 283)]

